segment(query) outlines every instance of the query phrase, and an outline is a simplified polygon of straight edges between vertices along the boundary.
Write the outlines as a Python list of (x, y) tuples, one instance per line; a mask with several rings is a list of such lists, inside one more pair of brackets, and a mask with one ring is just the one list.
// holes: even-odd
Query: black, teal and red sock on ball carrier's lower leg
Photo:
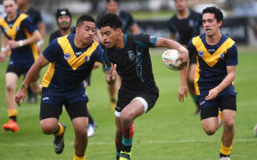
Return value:
[(135, 132), (135, 125), (131, 124), (127, 129), (121, 126), (121, 132), (122, 132), (121, 150), (130, 152), (132, 148), (133, 136)]

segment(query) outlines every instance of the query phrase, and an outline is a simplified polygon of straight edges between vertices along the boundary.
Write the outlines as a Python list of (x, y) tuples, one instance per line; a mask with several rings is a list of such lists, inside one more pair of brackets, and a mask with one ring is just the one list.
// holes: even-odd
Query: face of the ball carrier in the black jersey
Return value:
[(101, 35), (103, 37), (104, 46), (106, 48), (115, 47), (117, 44), (118, 37), (121, 34), (121, 29), (113, 29), (109, 26), (101, 28)]

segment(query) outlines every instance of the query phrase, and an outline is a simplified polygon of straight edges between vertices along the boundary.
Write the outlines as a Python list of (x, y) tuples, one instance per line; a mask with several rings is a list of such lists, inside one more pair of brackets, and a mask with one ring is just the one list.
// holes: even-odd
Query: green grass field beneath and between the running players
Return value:
[[(163, 50), (152, 51), (153, 72), (160, 88), (160, 98), (148, 114), (136, 120), (132, 159), (218, 160), (222, 130), (211, 137), (207, 136), (201, 127), (199, 116), (193, 115), (193, 100), (187, 97), (184, 103), (178, 103), (178, 72), (163, 66), (162, 52)], [(236, 68), (238, 112), (232, 160), (257, 159), (257, 137), (253, 136), (253, 126), (257, 123), (256, 60), (256, 48), (239, 48), (239, 65)], [(0, 64), (1, 126), (8, 120), (4, 94), (6, 64)], [(89, 139), (87, 160), (114, 160), (114, 115), (109, 108), (102, 69), (98, 68), (93, 72), (91, 82), (91, 86), (87, 88), (90, 99), (88, 105), (98, 127), (95, 135)], [(67, 125), (62, 155), (54, 153), (53, 136), (41, 132), (38, 113), (39, 102), (24, 102), (19, 108), (20, 132), (4, 132), (1, 127), (0, 160), (72, 159), (74, 133), (66, 111), (61, 116), (61, 121)]]

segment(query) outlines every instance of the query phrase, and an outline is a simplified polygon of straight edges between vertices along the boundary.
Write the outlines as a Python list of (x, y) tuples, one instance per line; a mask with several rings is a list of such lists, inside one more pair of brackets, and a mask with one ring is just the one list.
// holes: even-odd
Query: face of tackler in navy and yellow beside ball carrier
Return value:
[(76, 28), (76, 35), (83, 44), (90, 44), (95, 36), (95, 23), (92, 21), (83, 21), (80, 27)]

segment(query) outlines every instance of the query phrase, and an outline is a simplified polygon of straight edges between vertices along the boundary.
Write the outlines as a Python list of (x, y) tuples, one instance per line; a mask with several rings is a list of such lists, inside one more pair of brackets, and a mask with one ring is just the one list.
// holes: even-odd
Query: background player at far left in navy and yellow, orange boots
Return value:
[[(0, 61), (3, 62), (10, 53), (5, 74), (6, 103), (10, 120), (3, 125), (3, 128), (5, 131), (18, 132), (17, 109), (14, 101), (15, 88), (19, 77), (26, 75), (37, 60), (36, 42), (40, 40), (41, 36), (37, 27), (29, 20), (28, 15), (17, 12), (15, 0), (4, 0), (3, 3), (6, 17), (0, 20), (0, 28), (3, 32)], [(30, 87), (34, 92), (40, 93), (41, 86), (37, 79), (33, 79)]]

